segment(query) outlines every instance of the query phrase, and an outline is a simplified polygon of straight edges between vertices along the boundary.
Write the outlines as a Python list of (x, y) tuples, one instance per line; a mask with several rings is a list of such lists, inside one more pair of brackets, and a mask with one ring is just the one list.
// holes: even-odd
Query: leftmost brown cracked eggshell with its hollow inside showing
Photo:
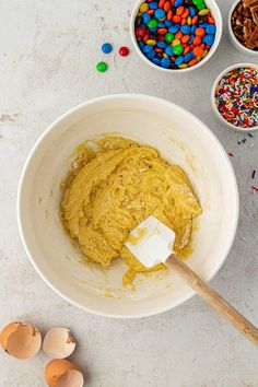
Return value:
[(42, 347), (42, 335), (31, 324), (15, 321), (0, 333), (2, 349), (13, 357), (24, 360), (35, 356)]

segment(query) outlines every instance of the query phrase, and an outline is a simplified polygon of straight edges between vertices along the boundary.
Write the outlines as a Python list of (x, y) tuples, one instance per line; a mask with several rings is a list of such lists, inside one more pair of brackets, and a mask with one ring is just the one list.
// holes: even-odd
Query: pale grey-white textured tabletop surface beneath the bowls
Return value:
[[(231, 1), (218, 1), (226, 21)], [(255, 387), (257, 350), (194, 297), (181, 307), (142, 320), (109, 320), (69, 305), (45, 285), (23, 250), (15, 196), (33, 143), (68, 108), (94, 96), (134, 92), (173, 101), (197, 114), (232, 159), (241, 194), (241, 219), (231, 254), (212, 281), (247, 318), (258, 322), (258, 196), (249, 186), (258, 169), (257, 140), (230, 132), (213, 117), (210, 89), (216, 74), (248, 61), (227, 40), (196, 72), (163, 75), (149, 69), (129, 45), (130, 0), (1, 0), (0, 2), (0, 326), (28, 320), (43, 330), (67, 326), (78, 339), (73, 360), (93, 387)], [(115, 55), (99, 74), (99, 46), (110, 40)], [(254, 146), (251, 144), (254, 143)], [(246, 238), (244, 241), (242, 237)], [(0, 354), (1, 387), (42, 387), (47, 359), (16, 362)]]

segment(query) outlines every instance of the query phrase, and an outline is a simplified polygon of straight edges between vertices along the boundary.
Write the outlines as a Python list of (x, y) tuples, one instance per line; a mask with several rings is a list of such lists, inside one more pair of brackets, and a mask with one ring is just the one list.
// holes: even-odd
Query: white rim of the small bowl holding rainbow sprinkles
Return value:
[(211, 107), (213, 113), (215, 114), (216, 118), (219, 118), (219, 120), (223, 124), (225, 124), (227, 126), (227, 128), (234, 129), (236, 131), (239, 131), (242, 133), (246, 133), (246, 132), (253, 132), (258, 130), (258, 125), (256, 127), (253, 128), (239, 128), (234, 126), (233, 124), (228, 122), (225, 118), (222, 117), (222, 115), (219, 113), (216, 105), (215, 105), (215, 90), (216, 86), (219, 84), (219, 82), (221, 81), (221, 79), (230, 71), (235, 70), (235, 69), (239, 69), (239, 68), (255, 68), (258, 71), (258, 64), (256, 63), (236, 63), (236, 64), (232, 64), (230, 67), (227, 67), (225, 70), (221, 71), (219, 73), (219, 75), (216, 77), (215, 81), (213, 82), (212, 89), (211, 89)]

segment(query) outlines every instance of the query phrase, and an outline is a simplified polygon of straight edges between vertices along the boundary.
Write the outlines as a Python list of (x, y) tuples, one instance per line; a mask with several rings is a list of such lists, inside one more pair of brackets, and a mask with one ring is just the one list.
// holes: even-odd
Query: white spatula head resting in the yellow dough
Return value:
[(149, 216), (133, 228), (126, 247), (146, 268), (165, 263), (173, 253), (175, 233), (155, 216)]

